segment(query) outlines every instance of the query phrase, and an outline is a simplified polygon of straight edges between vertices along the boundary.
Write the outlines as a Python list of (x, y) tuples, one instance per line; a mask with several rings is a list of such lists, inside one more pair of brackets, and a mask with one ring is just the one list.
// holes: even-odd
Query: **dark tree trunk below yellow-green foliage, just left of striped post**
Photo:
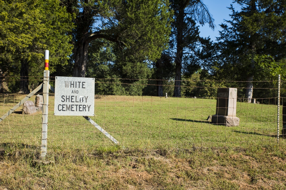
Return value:
[(29, 63), (23, 59), (21, 60), (19, 93), (27, 94), (29, 92)]

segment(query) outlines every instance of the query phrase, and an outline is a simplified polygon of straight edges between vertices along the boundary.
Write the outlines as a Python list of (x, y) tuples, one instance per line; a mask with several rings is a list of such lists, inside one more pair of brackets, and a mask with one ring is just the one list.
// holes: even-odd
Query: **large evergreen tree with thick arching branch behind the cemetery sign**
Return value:
[(117, 45), (114, 51), (122, 52), (117, 63), (126, 70), (126, 77), (132, 72), (140, 74), (140, 68), (146, 68), (142, 61), (160, 58), (168, 45), (171, 12), (167, 1), (66, 0), (63, 5), (76, 15), (71, 62), (74, 77), (85, 77), (88, 49), (96, 39)]

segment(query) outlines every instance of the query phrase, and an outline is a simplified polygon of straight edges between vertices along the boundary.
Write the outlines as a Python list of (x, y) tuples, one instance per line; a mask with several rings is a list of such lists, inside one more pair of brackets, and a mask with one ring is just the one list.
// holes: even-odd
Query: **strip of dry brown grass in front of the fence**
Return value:
[(285, 146), (51, 150), (1, 145), (0, 189), (286, 189)]

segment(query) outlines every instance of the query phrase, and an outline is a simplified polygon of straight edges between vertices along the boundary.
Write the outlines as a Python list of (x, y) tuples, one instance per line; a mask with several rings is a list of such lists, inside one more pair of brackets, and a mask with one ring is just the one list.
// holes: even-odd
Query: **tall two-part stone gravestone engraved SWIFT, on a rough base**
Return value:
[(212, 123), (225, 126), (239, 126), (236, 117), (237, 88), (217, 89), (216, 115), (212, 116)]

